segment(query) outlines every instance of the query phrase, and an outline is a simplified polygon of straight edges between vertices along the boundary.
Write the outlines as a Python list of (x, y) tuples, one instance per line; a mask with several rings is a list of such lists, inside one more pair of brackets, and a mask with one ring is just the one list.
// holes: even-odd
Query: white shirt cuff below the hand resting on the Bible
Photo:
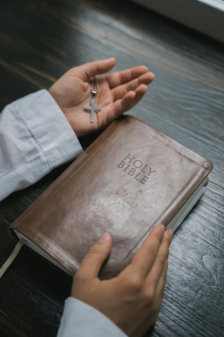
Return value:
[(57, 337), (127, 337), (102, 312), (76, 298), (65, 301)]

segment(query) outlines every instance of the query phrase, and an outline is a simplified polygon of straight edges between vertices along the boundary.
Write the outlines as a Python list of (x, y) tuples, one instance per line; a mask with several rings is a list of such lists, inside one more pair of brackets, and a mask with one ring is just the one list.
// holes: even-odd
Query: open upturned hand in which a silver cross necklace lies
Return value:
[(90, 112), (83, 109), (91, 101), (89, 79), (108, 72), (115, 62), (115, 58), (110, 58), (74, 67), (49, 89), (77, 136), (105, 128), (131, 109), (144, 96), (147, 85), (154, 79), (154, 74), (148, 72), (145, 66), (98, 77), (99, 92), (95, 96), (95, 106), (102, 110), (94, 113), (94, 122), (90, 123)]

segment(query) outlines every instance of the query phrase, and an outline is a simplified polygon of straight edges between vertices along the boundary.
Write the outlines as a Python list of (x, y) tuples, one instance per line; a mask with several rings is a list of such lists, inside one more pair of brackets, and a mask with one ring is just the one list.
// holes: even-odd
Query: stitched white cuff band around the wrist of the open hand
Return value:
[(47, 90), (20, 98), (12, 106), (23, 116), (52, 168), (83, 152), (71, 125)]

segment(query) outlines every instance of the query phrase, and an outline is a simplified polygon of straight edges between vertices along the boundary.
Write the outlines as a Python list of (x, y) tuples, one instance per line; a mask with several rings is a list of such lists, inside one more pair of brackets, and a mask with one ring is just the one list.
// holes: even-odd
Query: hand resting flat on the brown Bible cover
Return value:
[(105, 233), (76, 272), (71, 296), (101, 311), (128, 336), (142, 336), (158, 316), (172, 235), (172, 229), (156, 225), (130, 265), (117, 277), (100, 281), (98, 273), (112, 246)]

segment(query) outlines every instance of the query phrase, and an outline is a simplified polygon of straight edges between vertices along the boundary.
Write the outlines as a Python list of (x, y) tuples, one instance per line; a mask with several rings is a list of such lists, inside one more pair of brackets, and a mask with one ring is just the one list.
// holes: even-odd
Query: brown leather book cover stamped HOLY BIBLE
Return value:
[(102, 134), (10, 226), (71, 274), (104, 232), (113, 238), (100, 278), (116, 276), (153, 225), (169, 224), (212, 163), (126, 115)]

